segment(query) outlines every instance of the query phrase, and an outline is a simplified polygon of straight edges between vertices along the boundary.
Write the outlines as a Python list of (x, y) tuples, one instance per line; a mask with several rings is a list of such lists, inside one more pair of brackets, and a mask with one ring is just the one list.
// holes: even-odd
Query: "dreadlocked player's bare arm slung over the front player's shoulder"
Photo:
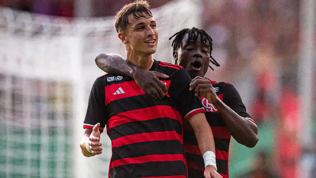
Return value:
[(155, 98), (163, 98), (168, 91), (167, 87), (158, 79), (166, 79), (168, 76), (137, 67), (119, 54), (101, 53), (95, 58), (95, 63), (106, 73), (115, 73), (134, 78), (137, 85), (144, 92)]

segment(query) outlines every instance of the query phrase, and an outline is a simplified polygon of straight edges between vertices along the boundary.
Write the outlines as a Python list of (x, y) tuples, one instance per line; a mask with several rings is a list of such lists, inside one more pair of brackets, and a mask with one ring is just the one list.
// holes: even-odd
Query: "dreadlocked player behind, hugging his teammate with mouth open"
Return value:
[[(202, 29), (192, 28), (183, 29), (174, 34), (173, 37), (173, 57), (175, 63), (184, 67), (190, 74), (192, 81), (190, 90), (201, 97), (202, 104), (206, 111), (206, 118), (210, 124), (216, 148), (217, 172), (223, 178), (228, 178), (228, 150), (231, 136), (240, 143), (249, 148), (254, 147), (258, 142), (258, 128), (243, 104), (238, 91), (228, 82), (215, 82), (204, 78), (210, 62), (219, 66), (211, 57), (212, 39)], [(169, 40), (170, 40), (169, 39)], [(163, 97), (157, 94), (165, 90), (156, 83), (160, 76), (159, 73), (145, 71), (126, 63), (122, 56), (118, 54), (99, 54), (95, 59), (98, 67), (105, 72), (119, 72), (133, 76), (139, 86), (144, 90), (148, 89), (150, 84), (151, 95)], [(211, 67), (213, 70), (213, 68)], [(142, 78), (143, 76), (150, 76)], [(182, 84), (185, 85), (185, 84)], [(188, 177), (202, 178), (204, 162), (201, 152), (197, 147), (197, 140), (189, 124), (185, 124), (184, 131), (185, 154), (187, 158)]]

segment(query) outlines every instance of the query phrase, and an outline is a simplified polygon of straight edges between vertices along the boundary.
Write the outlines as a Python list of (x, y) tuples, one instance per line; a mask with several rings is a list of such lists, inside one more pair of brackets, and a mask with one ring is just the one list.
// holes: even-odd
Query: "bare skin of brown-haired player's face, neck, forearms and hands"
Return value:
[[(151, 54), (155, 53), (157, 48), (158, 30), (156, 28), (156, 22), (152, 17), (142, 17), (140, 19), (135, 19), (132, 15), (128, 17), (128, 21), (130, 22), (130, 24), (127, 25), (127, 28), (124, 31), (120, 31), (118, 36), (120, 40), (125, 44), (126, 59), (128, 60), (128, 62), (137, 66), (137, 68), (143, 69), (143, 73), (146, 73), (150, 69), (154, 61), (151, 58)], [(146, 41), (149, 40), (155, 40), (154, 44), (146, 43)], [(124, 74), (129, 74), (130, 71), (132, 71), (131, 68), (125, 70)], [(159, 82), (161, 81), (159, 80)], [(213, 133), (211, 131), (210, 125), (207, 123), (205, 115), (203, 113), (197, 113), (193, 115), (191, 118), (189, 118), (188, 121), (194, 130), (198, 146), (200, 148), (202, 155), (206, 151), (213, 151), (215, 153)], [(98, 125), (100, 124), (98, 123)], [(95, 150), (95, 154), (93, 152), (92, 156), (102, 153), (100, 136), (98, 135), (98, 132), (92, 131), (90, 135), (88, 134), (89, 132), (90, 131), (85, 129), (85, 134), (82, 137), (81, 142), (81, 148), (83, 149), (82, 153), (84, 156), (87, 157), (90, 156), (90, 154), (87, 154), (87, 149), (83, 147), (83, 145), (87, 141), (89, 143), (89, 148), (91, 150)], [(206, 178), (222, 177), (217, 173), (216, 169), (213, 166), (205, 167), (204, 176)]]

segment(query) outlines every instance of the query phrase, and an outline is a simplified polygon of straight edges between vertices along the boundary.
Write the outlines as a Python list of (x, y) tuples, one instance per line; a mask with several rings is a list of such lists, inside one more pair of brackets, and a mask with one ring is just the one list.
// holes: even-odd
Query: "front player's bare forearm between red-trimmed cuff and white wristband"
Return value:
[[(193, 118), (193, 117), (199, 117)], [(204, 118), (204, 119), (203, 119)], [(189, 120), (193, 130), (195, 137), (197, 139), (197, 144), (199, 149), (204, 155), (206, 151), (213, 151), (215, 153), (215, 143), (212, 130), (210, 125), (208, 124), (204, 113), (197, 113)]]

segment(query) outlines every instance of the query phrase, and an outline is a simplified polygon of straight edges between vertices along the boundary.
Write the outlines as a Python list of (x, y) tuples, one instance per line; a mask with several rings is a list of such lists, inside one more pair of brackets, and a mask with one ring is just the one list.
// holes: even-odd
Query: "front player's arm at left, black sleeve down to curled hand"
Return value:
[(100, 134), (106, 124), (105, 76), (99, 77), (92, 86), (86, 117), (83, 123), (84, 133), (80, 142), (82, 154), (86, 157), (102, 153)]

